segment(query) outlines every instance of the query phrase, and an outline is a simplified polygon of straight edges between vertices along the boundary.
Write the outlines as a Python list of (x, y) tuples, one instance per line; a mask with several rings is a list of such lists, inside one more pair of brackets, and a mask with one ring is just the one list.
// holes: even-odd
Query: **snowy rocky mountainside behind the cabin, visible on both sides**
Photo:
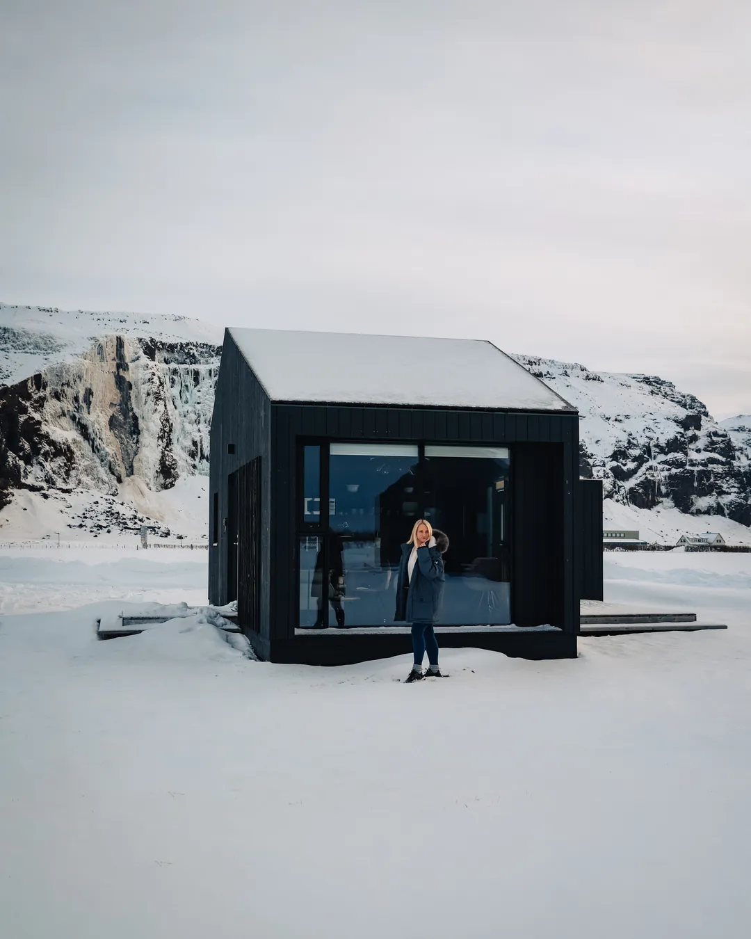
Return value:
[[(205, 534), (224, 325), (0, 304), (3, 537), (115, 536), (148, 519)], [(579, 408), (581, 472), (604, 480), (607, 524), (749, 540), (751, 418), (716, 423), (659, 377), (515, 358)]]

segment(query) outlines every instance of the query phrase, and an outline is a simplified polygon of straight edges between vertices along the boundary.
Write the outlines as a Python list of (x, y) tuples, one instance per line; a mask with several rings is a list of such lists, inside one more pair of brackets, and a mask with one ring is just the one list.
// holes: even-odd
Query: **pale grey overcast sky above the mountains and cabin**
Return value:
[(0, 128), (0, 300), (489, 338), (751, 413), (743, 0), (2, 0)]

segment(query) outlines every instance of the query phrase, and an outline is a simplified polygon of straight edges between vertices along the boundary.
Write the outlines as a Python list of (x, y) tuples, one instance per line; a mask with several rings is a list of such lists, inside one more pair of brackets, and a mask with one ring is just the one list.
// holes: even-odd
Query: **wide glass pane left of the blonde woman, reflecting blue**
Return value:
[[(392, 625), (401, 545), (418, 517), (417, 445), (331, 443), (330, 569), (340, 627)], [(333, 625), (334, 623), (330, 623)]]

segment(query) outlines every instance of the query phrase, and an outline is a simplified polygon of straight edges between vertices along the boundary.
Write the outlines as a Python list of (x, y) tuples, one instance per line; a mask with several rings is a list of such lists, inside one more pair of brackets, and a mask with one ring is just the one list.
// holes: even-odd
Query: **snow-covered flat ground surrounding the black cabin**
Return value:
[(747, 935), (751, 555), (605, 556), (607, 599), (728, 631), (403, 685), (200, 617), (98, 642), (122, 599), (204, 602), (205, 554), (53, 553), (0, 553), (3, 939)]

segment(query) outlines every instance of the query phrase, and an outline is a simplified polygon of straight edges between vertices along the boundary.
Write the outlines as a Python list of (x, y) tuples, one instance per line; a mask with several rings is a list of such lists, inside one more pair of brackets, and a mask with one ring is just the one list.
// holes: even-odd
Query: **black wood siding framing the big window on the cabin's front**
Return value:
[(578, 631), (577, 414), (273, 404), (272, 641), (295, 636), (299, 593), (296, 453), (300, 439), (315, 438), (511, 446), (514, 622), (550, 623), (569, 634)]

